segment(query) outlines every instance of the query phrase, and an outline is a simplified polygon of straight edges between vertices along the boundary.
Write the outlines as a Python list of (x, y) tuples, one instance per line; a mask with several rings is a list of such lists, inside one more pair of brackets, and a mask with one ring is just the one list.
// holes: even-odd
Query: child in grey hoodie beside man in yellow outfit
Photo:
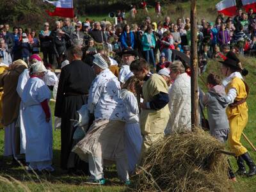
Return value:
[[(224, 86), (221, 85), (220, 76), (209, 74), (207, 77), (209, 92), (203, 96), (203, 104), (207, 107), (210, 134), (221, 143), (228, 138), (229, 124), (226, 114), (228, 99)], [(228, 169), (230, 179), (236, 180), (231, 168)]]

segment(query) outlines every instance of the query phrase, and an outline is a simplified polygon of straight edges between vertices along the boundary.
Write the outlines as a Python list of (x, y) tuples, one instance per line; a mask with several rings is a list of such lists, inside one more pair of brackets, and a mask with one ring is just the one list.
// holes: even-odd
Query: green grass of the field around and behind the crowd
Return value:
[[(198, 0), (198, 19), (205, 18), (207, 20), (214, 21), (216, 12), (214, 11), (215, 4), (218, 0)], [(179, 11), (180, 10), (180, 11)], [(170, 15), (172, 20), (176, 20), (177, 17), (189, 17), (190, 3), (177, 3), (170, 4), (168, 7), (164, 7), (164, 14)], [(149, 10), (149, 15), (154, 14), (154, 10)], [(86, 17), (95, 20), (102, 20), (108, 18), (108, 15), (81, 15), (80, 19), (83, 20)], [(163, 19), (163, 18), (162, 18)], [(249, 70), (248, 76), (246, 76), (246, 82), (250, 86), (250, 95), (248, 97), (249, 106), (249, 122), (244, 130), (244, 133), (248, 138), (256, 145), (256, 59), (255, 58), (241, 58), (244, 67)], [(207, 71), (202, 76), (204, 79), (209, 72), (215, 72), (220, 74), (220, 63), (215, 60), (209, 61), (207, 64)], [(204, 88), (202, 82), (200, 87)], [(205, 88), (204, 88), (205, 90)], [(51, 102), (52, 112), (54, 111), (54, 103)], [(248, 148), (253, 159), (256, 161), (256, 152), (253, 152), (252, 148), (242, 138), (242, 143)], [(0, 154), (4, 151), (4, 130), (0, 129)], [(108, 179), (106, 186), (102, 188), (100, 186), (88, 186), (83, 184), (86, 177), (68, 175), (60, 169), (60, 130), (53, 131), (53, 152), (54, 152), (54, 168), (56, 172), (52, 175), (31, 175), (25, 172), (24, 168), (19, 166), (11, 166), (6, 164), (3, 156), (0, 156), (0, 191), (123, 191), (124, 186), (116, 179), (115, 168), (109, 168), (106, 171), (106, 178)], [(237, 169), (236, 161), (233, 157), (232, 166), (234, 170)], [(234, 184), (235, 191), (256, 191), (256, 176), (237, 177), (237, 182)]]

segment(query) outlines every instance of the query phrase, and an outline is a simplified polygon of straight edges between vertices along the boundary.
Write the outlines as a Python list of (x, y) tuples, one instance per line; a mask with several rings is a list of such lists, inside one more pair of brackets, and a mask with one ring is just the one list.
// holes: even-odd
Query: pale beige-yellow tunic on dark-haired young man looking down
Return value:
[[(160, 92), (168, 93), (168, 85), (163, 77), (153, 74), (143, 84), (143, 99), (145, 102), (153, 100), (154, 96)], [(140, 116), (141, 132), (143, 134), (143, 146), (141, 154), (147, 150), (152, 143), (163, 138), (164, 129), (168, 123), (170, 110), (168, 105), (162, 109), (143, 109)]]

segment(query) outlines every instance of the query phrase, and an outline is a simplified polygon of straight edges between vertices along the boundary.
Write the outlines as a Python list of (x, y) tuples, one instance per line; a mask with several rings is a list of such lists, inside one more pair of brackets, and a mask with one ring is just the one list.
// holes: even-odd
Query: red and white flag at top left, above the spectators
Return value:
[(48, 15), (69, 17), (69, 18), (74, 17), (74, 8), (73, 8), (72, 0), (59, 0), (59, 1), (44, 0), (44, 2), (51, 3), (52, 5), (56, 6), (54, 12), (50, 12), (49, 10), (46, 10)]

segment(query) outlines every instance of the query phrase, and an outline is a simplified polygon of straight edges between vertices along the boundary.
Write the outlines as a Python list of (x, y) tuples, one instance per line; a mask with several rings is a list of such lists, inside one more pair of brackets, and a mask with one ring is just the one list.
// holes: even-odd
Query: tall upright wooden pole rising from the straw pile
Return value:
[(196, 0), (191, 0), (191, 125), (199, 126)]

